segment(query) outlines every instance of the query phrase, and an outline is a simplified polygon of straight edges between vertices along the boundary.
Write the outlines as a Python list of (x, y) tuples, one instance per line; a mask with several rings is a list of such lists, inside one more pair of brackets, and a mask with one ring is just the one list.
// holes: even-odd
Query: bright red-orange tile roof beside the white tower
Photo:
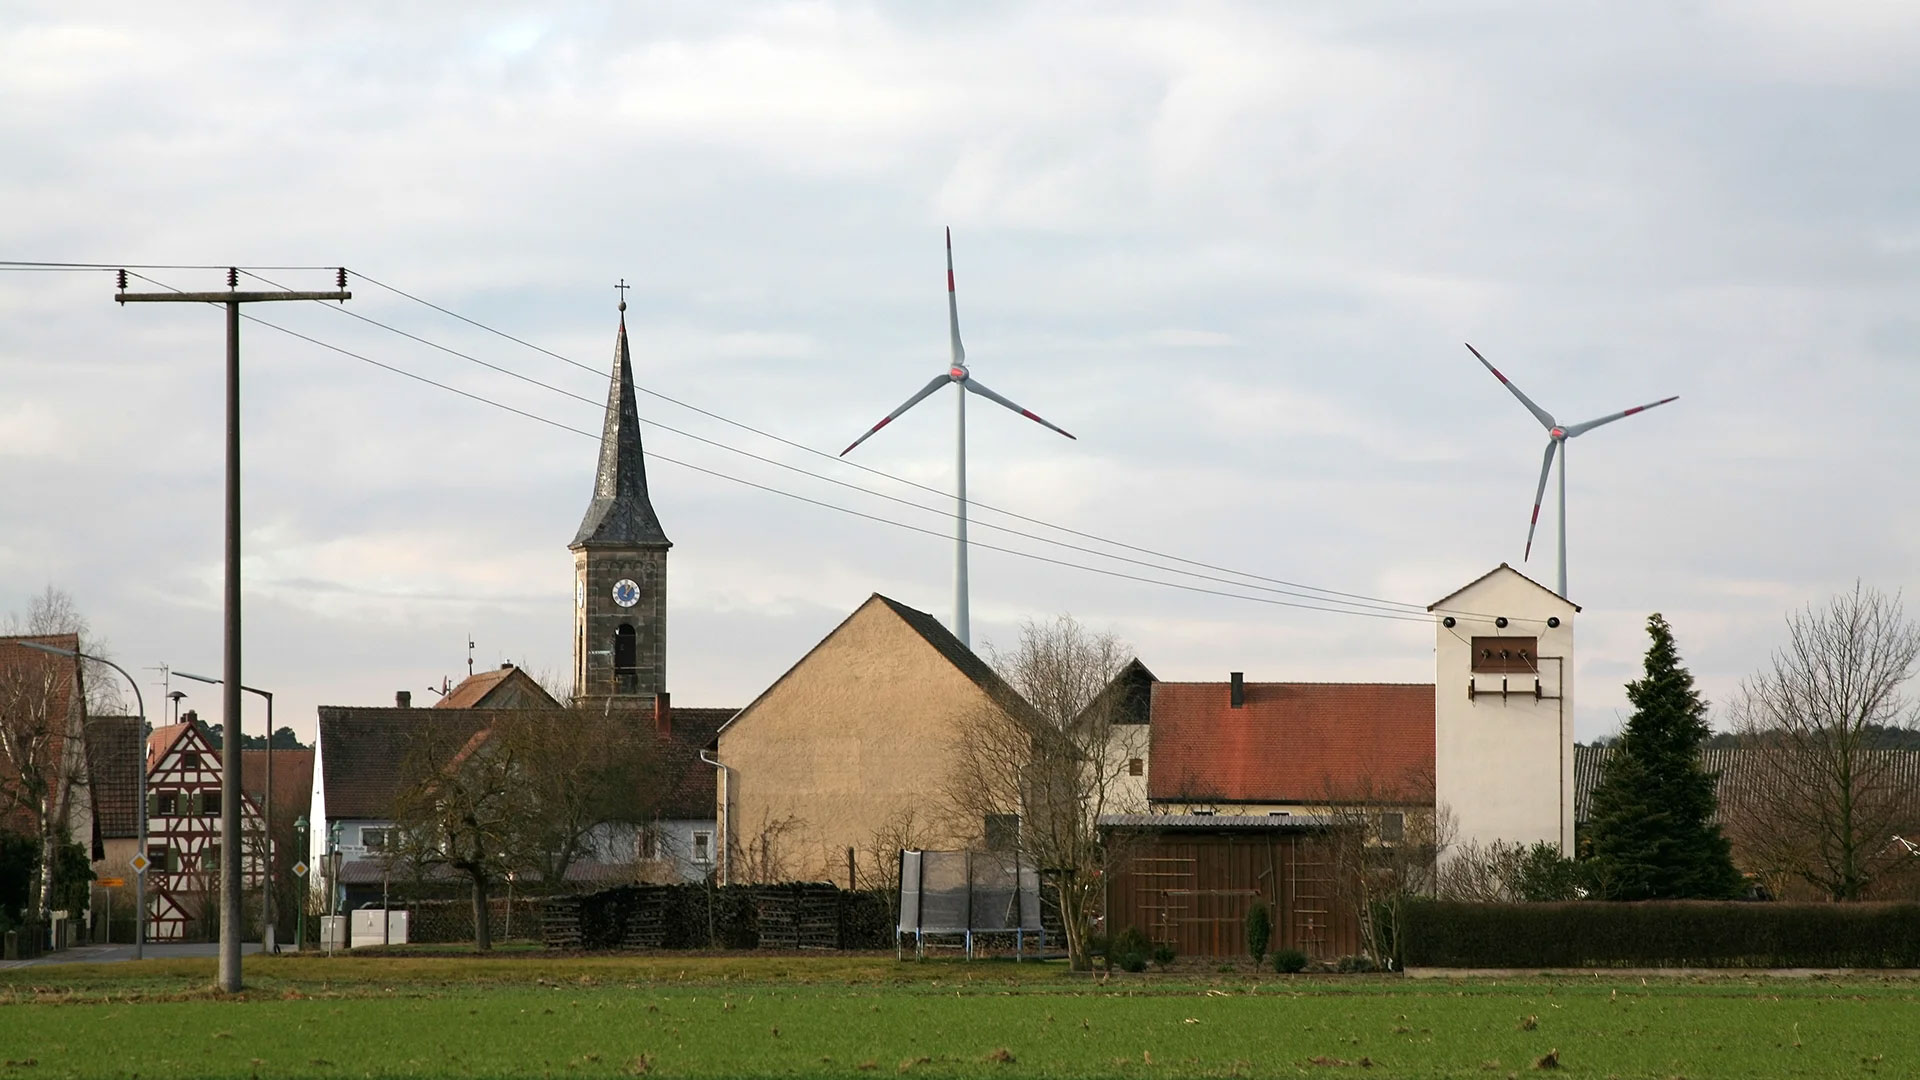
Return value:
[(1148, 798), (1319, 803), (1432, 798), (1434, 688), (1405, 682), (1154, 684)]

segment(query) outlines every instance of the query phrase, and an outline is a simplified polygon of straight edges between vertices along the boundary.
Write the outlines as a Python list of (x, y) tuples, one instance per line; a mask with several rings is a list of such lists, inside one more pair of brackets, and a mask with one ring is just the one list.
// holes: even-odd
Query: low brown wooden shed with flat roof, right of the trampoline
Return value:
[(1359, 951), (1359, 922), (1336, 901), (1327, 822), (1267, 815), (1114, 815), (1104, 832), (1131, 832), (1127, 857), (1106, 878), (1106, 930), (1129, 926), (1183, 957), (1244, 957), (1246, 915), (1273, 911), (1269, 951), (1313, 961)]

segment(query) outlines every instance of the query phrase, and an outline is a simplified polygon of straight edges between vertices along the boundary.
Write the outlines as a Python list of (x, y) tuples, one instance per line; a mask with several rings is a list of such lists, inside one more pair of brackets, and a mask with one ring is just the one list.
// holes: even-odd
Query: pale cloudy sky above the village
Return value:
[[(885, 475), (829, 457), (943, 371), (950, 227), (973, 375), (1077, 436), (973, 398), (972, 498), (1046, 525), (975, 519), (1089, 548), (1048, 527), (1417, 605), (1551, 582), (1544, 432), (1461, 342), (1563, 423), (1678, 394), (1571, 444), (1588, 740), (1653, 611), (1724, 705), (1789, 611), (1920, 588), (1916, 129), (1893, 0), (0, 0), (0, 259), (351, 269), (250, 313), (365, 359), (242, 331), (244, 678), (307, 736), (468, 640), (564, 678), (618, 281), (641, 386), (705, 409), (639, 398), (674, 701), (745, 705), (872, 592), (947, 619), (952, 390), (854, 452)], [(111, 296), (0, 271), (0, 611), (67, 590), (157, 713), (152, 669), (221, 665), (223, 319)], [(973, 538), (1073, 563), (975, 548), (975, 646), (1071, 613), (1162, 678), (1432, 680), (1423, 621)]]

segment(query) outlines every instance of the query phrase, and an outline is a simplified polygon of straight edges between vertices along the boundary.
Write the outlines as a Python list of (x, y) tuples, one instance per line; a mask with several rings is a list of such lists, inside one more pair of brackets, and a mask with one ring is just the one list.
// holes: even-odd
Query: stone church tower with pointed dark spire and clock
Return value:
[(626, 300), (620, 302), (593, 502), (568, 548), (574, 552), (574, 700), (630, 698), (639, 707), (666, 690), (666, 550), (672, 542), (647, 498)]

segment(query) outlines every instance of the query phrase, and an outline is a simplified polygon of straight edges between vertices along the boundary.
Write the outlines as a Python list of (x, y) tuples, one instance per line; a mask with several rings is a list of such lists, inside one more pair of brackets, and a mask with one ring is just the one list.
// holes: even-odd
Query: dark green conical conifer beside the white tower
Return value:
[(1649, 617), (1647, 636), (1645, 675), (1626, 684), (1634, 715), (1594, 788), (1586, 876), (1605, 899), (1728, 899), (1741, 878), (1699, 761), (1707, 701), (1667, 619)]

